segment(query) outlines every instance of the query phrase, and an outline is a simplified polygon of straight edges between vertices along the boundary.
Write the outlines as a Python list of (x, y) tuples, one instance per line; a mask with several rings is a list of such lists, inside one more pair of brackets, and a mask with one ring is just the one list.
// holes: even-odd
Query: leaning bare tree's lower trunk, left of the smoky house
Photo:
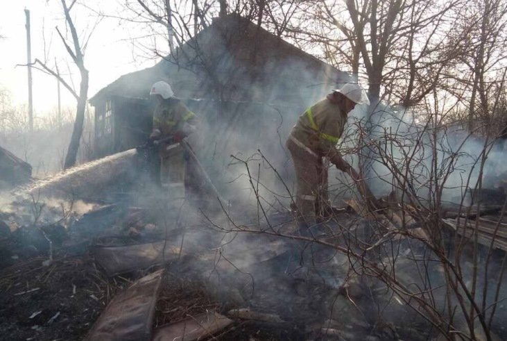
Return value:
[(72, 131), (71, 142), (65, 156), (64, 169), (76, 165), (76, 156), (78, 155), (79, 142), (83, 135), (83, 125), (85, 122), (85, 109), (88, 94), (88, 70), (83, 68), (81, 71), (81, 83), (79, 90), (78, 106), (76, 111), (76, 120), (74, 121), (74, 130)]

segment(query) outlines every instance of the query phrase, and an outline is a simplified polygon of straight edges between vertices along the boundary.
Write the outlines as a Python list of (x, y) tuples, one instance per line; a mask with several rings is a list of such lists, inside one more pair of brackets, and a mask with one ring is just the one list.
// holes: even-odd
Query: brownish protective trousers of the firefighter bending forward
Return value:
[(327, 165), (323, 158), (313, 153), (301, 142), (289, 138), (286, 143), (291, 152), (297, 179), (295, 204), (298, 222), (307, 227), (316, 225), (319, 210), (328, 201)]

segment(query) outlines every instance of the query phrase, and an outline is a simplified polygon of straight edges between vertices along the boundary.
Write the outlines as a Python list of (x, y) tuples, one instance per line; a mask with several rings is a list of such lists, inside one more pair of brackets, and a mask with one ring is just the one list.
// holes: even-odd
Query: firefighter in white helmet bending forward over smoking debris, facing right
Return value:
[(299, 117), (286, 142), (298, 181), (295, 206), (301, 233), (308, 233), (307, 228), (316, 225), (328, 202), (328, 163), (347, 171), (336, 144), (356, 104), (370, 104), (359, 85), (346, 83), (332, 90)]

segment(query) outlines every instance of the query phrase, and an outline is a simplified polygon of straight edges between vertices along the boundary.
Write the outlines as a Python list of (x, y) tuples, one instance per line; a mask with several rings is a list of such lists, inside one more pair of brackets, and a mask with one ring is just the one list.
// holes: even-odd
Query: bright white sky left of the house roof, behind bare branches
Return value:
[[(26, 66), (26, 17), (24, 9), (31, 16), (31, 54), (32, 60), (46, 60), (47, 64), (58, 68), (69, 83), (79, 87), (78, 69), (73, 65), (62, 41), (55, 30), (69, 33), (60, 0), (16, 0), (5, 2), (0, 11), (0, 88), (8, 90), (12, 104), (22, 106), (28, 103), (28, 72)], [(114, 0), (87, 0), (87, 5), (100, 8), (105, 13), (117, 13), (121, 3)], [(91, 11), (78, 6), (72, 8), (76, 30), (80, 39), (89, 36), (98, 20)], [(155, 64), (156, 60), (143, 58), (141, 51), (135, 49), (130, 36), (135, 35), (132, 27), (119, 25), (115, 19), (102, 19), (94, 29), (85, 50), (85, 67), (89, 71), (89, 97), (105, 85), (112, 83), (122, 74), (144, 69)], [(70, 33), (68, 35), (71, 43)], [(145, 52), (146, 54), (146, 52)], [(71, 75), (71, 76), (69, 76)], [(34, 115), (44, 115), (58, 106), (57, 82), (52, 76), (33, 69), (33, 108)], [(62, 106), (76, 105), (74, 97), (62, 88)]]

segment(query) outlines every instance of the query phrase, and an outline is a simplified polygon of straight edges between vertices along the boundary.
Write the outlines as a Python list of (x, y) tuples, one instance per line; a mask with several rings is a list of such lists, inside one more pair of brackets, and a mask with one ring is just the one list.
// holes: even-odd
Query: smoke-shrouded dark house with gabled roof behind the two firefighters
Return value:
[(297, 117), (350, 76), (244, 17), (217, 17), (174, 56), (121, 76), (89, 100), (97, 158), (146, 142), (156, 81), (171, 84), (201, 118), (191, 144), (200, 161), (221, 174), (231, 155), (248, 158), (257, 149), (286, 167), (283, 141)]

